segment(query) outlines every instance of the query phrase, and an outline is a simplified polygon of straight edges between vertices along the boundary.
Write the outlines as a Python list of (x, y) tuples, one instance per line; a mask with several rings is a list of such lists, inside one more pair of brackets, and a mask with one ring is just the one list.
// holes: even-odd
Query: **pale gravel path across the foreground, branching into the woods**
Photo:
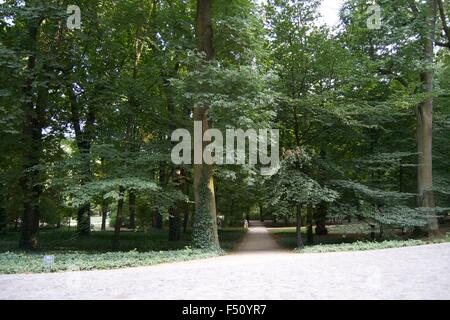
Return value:
[(0, 275), (0, 299), (450, 299), (450, 244), (293, 254), (256, 225), (238, 252), (224, 257), (109, 271)]

